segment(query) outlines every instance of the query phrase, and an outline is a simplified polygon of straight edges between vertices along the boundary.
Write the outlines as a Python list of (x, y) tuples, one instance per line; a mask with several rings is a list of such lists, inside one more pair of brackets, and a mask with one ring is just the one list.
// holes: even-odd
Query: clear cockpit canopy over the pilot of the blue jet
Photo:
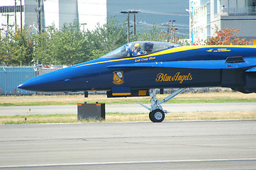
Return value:
[[(140, 44), (141, 52), (136, 53), (135, 52), (135, 44)], [(152, 52), (157, 52), (160, 50), (166, 50), (172, 47), (179, 47), (181, 45), (169, 43), (169, 42), (157, 42), (157, 41), (136, 41), (136, 42), (130, 42), (126, 45), (123, 45), (122, 47), (119, 47), (116, 50), (113, 50), (112, 52), (109, 52), (108, 54), (104, 55), (103, 57), (106, 58), (125, 58), (125, 57), (132, 57), (137, 55), (145, 55), (150, 54)]]

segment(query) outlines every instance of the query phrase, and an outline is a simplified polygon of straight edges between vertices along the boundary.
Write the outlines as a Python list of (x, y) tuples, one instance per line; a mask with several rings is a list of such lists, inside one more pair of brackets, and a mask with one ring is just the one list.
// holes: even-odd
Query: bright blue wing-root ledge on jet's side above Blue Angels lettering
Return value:
[(180, 69), (236, 69), (255, 66), (255, 63), (237, 62), (227, 63), (226, 60), (201, 60), (201, 61), (180, 61), (180, 62), (140, 62), (133, 64), (110, 65), (109, 68), (117, 67), (162, 67)]

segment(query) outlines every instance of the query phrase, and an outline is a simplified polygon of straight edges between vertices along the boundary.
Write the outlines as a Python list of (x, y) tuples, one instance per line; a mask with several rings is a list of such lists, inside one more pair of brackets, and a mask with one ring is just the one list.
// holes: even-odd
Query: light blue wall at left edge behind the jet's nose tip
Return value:
[(18, 85), (36, 76), (34, 67), (0, 67), (0, 95), (35, 94), (18, 89)]

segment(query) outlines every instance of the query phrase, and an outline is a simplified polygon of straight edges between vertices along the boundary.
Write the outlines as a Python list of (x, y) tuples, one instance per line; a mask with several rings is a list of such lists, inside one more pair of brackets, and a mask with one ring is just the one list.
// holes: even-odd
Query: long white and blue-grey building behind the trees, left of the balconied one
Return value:
[[(15, 10), (16, 1), (16, 10)], [(61, 29), (64, 23), (77, 21), (80, 30), (94, 30), (97, 24), (103, 25), (107, 18), (114, 17), (123, 23), (127, 15), (121, 11), (140, 11), (136, 15), (136, 29), (148, 29), (152, 25), (164, 26), (169, 21), (176, 21), (177, 33), (183, 37), (189, 35), (189, 8), (187, 0), (10, 0), (0, 1), (0, 28), (4, 30), (15, 30), (22, 26), (33, 26), (38, 30), (38, 13), (40, 12), (40, 23), (42, 29), (55, 24)], [(16, 13), (15, 13), (16, 11)], [(15, 17), (16, 16), (16, 17)], [(16, 20), (15, 20), (16, 18)], [(15, 24), (16, 23), (16, 24)], [(133, 25), (133, 16), (130, 16), (130, 25)]]

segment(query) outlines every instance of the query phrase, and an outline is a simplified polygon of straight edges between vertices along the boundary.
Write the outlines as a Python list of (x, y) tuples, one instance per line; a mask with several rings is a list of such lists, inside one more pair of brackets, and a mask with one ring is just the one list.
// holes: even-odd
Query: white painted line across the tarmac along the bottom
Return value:
[(6, 165), (0, 166), (0, 169), (13, 168), (33, 168), (49, 166), (90, 166), (90, 165), (117, 165), (117, 164), (166, 164), (166, 163), (186, 163), (186, 162), (256, 162), (256, 158), (242, 159), (187, 159), (187, 160), (162, 160), (162, 161), (138, 161), (138, 162), (88, 162), (88, 163), (70, 163), (70, 164), (27, 164), (27, 165)]

